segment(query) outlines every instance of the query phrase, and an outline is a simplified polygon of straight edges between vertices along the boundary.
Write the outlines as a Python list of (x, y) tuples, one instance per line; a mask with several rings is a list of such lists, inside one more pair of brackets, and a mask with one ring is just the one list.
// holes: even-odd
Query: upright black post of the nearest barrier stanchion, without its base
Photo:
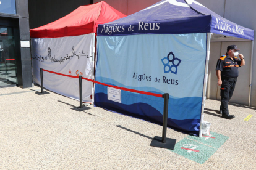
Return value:
[(166, 131), (167, 131), (167, 119), (168, 119), (168, 102), (169, 102), (169, 94), (164, 94), (164, 112), (163, 112), (163, 135), (162, 142), (166, 143)]

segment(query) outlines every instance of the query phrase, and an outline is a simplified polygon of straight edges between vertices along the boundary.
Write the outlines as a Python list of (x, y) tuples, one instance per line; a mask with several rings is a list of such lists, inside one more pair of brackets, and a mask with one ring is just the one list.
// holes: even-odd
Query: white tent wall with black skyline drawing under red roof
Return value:
[[(92, 78), (93, 34), (62, 38), (32, 38), (33, 81), (41, 84), (40, 68)], [(43, 71), (46, 89), (79, 99), (79, 79)], [(83, 102), (91, 102), (92, 83), (83, 80)]]

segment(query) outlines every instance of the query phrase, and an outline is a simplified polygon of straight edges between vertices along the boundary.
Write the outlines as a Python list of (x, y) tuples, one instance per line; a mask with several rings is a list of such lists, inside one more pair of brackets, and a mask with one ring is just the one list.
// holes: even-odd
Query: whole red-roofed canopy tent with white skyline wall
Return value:
[[(31, 29), (33, 82), (41, 84), (40, 68), (94, 79), (95, 35), (98, 24), (112, 22), (122, 17), (126, 15), (101, 1), (80, 6), (59, 20)], [(44, 76), (44, 81), (46, 89), (72, 99), (79, 99), (78, 84), (72, 79), (48, 75)], [(90, 88), (93, 89), (93, 83), (84, 81), (83, 102), (93, 102), (93, 91)], [(88, 96), (91, 96), (90, 99)]]

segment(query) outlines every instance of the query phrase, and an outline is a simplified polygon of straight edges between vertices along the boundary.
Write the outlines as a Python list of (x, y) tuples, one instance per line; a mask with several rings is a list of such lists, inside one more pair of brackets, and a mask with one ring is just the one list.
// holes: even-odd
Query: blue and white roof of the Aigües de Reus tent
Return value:
[(98, 26), (98, 36), (184, 33), (215, 33), (254, 40), (254, 30), (230, 22), (194, 0), (162, 0)]

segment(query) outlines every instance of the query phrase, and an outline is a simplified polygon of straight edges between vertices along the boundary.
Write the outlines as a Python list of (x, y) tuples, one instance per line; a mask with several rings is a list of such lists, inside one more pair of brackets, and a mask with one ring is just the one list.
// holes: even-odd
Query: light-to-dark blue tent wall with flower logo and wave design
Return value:
[[(207, 34), (98, 36), (96, 81), (157, 94), (169, 93), (168, 126), (199, 134)], [(163, 121), (159, 97), (122, 91), (108, 100), (108, 87), (95, 84), (95, 105)]]

